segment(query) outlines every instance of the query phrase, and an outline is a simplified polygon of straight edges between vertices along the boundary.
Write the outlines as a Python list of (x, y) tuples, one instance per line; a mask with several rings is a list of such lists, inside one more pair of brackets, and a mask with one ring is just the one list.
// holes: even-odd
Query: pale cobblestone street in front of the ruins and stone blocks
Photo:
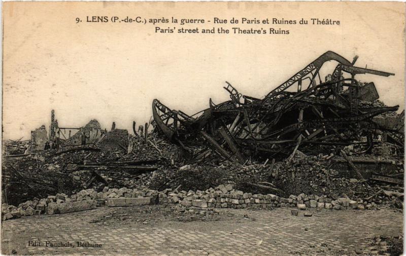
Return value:
[[(157, 206), (158, 207), (158, 206)], [(163, 207), (163, 206), (159, 206)], [(2, 252), (12, 254), (374, 254), (368, 241), (400, 235), (402, 214), (390, 209), (313, 211), (221, 209), (218, 218), (181, 221), (171, 207), (102, 207), (2, 223)], [(144, 212), (144, 213), (142, 213)], [(152, 215), (151, 212), (155, 212)], [(46, 246), (46, 243), (74, 247)], [(81, 247), (99, 244), (100, 247)], [(37, 245), (37, 246), (29, 246)], [(40, 245), (38, 245), (40, 244)]]

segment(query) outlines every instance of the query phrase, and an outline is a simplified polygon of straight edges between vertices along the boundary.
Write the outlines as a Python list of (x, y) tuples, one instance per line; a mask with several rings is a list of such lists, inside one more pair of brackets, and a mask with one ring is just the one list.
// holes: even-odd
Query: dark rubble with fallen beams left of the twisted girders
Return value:
[[(114, 145), (112, 137), (108, 132), (109, 142), (101, 140), (95, 146), (69, 146), (25, 156), (6, 156), (3, 195), (9, 202), (18, 204), (33, 197), (56, 193), (71, 195), (88, 188), (98, 191), (105, 186), (140, 188), (149, 185), (155, 171), (172, 168), (175, 161), (181, 162), (178, 147), (157, 133), (150, 134), (148, 140), (153, 141), (154, 146), (145, 144), (140, 136), (127, 134), (125, 150), (111, 146)], [(120, 141), (117, 145), (121, 145)]]

